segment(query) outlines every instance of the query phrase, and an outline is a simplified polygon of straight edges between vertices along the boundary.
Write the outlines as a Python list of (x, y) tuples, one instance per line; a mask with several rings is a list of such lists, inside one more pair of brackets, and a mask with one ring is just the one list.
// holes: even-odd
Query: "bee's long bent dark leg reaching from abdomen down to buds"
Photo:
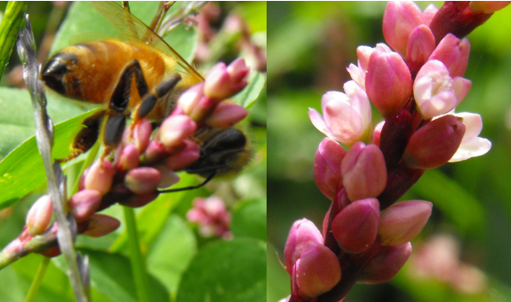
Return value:
[(108, 103), (108, 119), (103, 136), (105, 150), (101, 158), (109, 155), (119, 145), (121, 139), (123, 139), (123, 132), (126, 126), (125, 112), (130, 103), (133, 76), (135, 76), (135, 82), (137, 83), (140, 95), (148, 93), (148, 83), (146, 83), (140, 63), (138, 60), (132, 60), (124, 68), (112, 98)]

